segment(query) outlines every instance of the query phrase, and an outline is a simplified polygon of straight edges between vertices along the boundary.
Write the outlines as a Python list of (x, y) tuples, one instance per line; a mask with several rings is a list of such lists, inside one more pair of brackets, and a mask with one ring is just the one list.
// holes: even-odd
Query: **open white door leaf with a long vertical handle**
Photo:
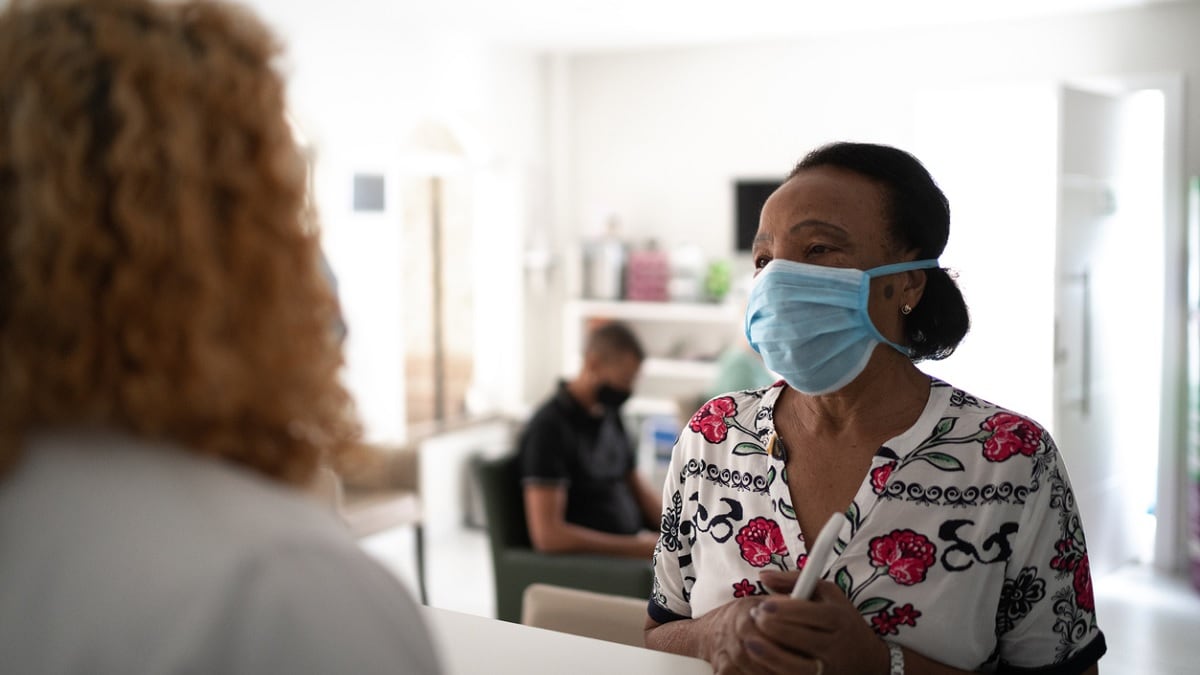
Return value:
[(1097, 572), (1154, 560), (1165, 221), (1163, 91), (1060, 91), (1055, 436)]

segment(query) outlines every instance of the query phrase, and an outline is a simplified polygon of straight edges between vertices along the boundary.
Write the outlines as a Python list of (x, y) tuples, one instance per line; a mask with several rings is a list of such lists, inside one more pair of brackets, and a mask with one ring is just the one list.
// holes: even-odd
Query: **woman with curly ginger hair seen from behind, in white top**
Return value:
[(277, 53), (221, 4), (0, 13), (0, 671), (438, 670), (300, 491), (359, 426)]

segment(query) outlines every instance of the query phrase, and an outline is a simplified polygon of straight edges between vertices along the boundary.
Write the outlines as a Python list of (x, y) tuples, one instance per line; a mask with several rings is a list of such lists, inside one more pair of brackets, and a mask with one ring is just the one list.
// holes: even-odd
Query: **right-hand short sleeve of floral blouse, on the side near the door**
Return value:
[(1105, 651), (1075, 495), (1045, 438), (996, 615), (998, 673), (1078, 674)]

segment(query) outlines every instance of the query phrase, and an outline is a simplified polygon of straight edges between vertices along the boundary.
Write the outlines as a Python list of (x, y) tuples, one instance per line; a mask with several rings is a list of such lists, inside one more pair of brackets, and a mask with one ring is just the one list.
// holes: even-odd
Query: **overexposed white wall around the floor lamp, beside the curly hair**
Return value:
[[(323, 240), (349, 327), (346, 380), (367, 437), (406, 437), (398, 178), (413, 171), (408, 133), (427, 119), (449, 127), (467, 154), (475, 246), (470, 264), (448, 273), (474, 283), (469, 402), (518, 408), (523, 233), (545, 201), (544, 59), (452, 34), (408, 34), (385, 5), (359, 2), (355, 13), (332, 2), (258, 5), (286, 42), (292, 112), (316, 151)], [(386, 177), (384, 213), (350, 210), (361, 172)]]

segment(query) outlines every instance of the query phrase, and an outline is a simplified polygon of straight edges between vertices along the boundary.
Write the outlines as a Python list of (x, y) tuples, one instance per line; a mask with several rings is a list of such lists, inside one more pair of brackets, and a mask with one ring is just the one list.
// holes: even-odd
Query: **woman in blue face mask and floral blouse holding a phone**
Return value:
[[(784, 380), (683, 430), (649, 646), (719, 673), (1096, 673), (1104, 637), (1054, 442), (913, 365), (967, 330), (937, 261), (948, 233), (925, 168), (881, 145), (817, 149), (767, 201), (746, 336)], [(768, 595), (834, 513), (811, 599)]]

